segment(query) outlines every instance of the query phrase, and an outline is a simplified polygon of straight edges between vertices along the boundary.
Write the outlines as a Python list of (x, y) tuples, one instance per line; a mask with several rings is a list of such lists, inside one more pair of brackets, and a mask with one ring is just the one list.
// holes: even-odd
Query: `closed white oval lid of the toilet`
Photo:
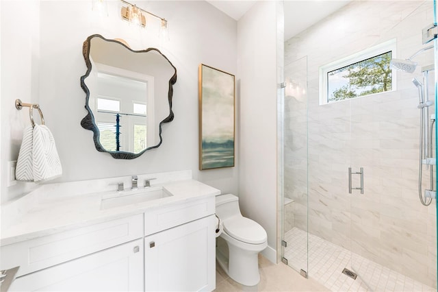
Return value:
[(264, 243), (268, 237), (259, 223), (246, 217), (234, 217), (225, 220), (224, 230), (229, 236), (245, 243)]

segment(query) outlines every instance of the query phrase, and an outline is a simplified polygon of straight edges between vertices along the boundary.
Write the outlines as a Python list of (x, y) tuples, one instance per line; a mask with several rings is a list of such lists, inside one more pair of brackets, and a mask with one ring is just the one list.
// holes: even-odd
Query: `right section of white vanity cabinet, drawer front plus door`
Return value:
[(145, 291), (216, 288), (214, 210), (209, 197), (144, 213)]

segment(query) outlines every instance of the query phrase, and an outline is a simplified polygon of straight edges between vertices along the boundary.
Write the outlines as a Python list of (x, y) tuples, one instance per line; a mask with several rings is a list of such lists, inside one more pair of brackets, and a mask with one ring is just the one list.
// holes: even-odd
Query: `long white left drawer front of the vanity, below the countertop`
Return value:
[(0, 269), (21, 266), (23, 276), (142, 236), (142, 214), (42, 236), (0, 247)]

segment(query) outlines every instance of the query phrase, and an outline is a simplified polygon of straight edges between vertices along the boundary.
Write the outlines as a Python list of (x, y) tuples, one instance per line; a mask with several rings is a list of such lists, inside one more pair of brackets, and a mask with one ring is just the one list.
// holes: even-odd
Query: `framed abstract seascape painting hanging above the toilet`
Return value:
[(234, 75), (199, 65), (199, 169), (234, 166)]

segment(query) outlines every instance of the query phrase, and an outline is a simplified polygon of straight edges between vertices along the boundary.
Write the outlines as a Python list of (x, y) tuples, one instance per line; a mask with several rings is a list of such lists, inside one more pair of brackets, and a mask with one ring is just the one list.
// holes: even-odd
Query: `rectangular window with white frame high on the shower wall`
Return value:
[(320, 67), (320, 104), (394, 90), (389, 67), (394, 51), (391, 40)]

